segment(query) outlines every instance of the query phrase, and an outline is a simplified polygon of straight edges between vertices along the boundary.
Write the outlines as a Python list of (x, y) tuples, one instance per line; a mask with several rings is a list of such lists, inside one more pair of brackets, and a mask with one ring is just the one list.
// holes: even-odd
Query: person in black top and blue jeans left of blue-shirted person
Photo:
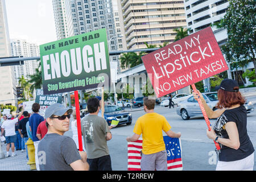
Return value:
[[(26, 150), (27, 152), (27, 143), (28, 140), (28, 135), (27, 135), (27, 129), (26, 129), (26, 124), (29, 120), (30, 114), (28, 114), (28, 111), (23, 111), (23, 119), (19, 121), (19, 126), (18, 126), (18, 131), (20, 134), (20, 137), (22, 138), (22, 152)], [(28, 159), (28, 152), (27, 152), (27, 159)]]

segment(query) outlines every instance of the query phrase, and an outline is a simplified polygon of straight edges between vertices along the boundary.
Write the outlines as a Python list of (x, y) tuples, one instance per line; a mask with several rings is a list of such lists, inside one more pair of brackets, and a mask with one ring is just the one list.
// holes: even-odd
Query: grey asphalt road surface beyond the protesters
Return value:
[[(249, 99), (249, 97), (248, 97)], [(256, 101), (256, 97), (250, 97), (250, 100)], [(131, 125), (121, 125), (112, 129), (112, 140), (108, 141), (110, 156), (112, 158), (113, 170), (127, 170), (127, 142), (126, 137), (133, 135), (133, 129), (136, 120), (145, 114), (144, 110), (133, 108), (131, 111), (133, 122)], [(130, 109), (128, 109), (130, 110)], [(217, 156), (214, 152), (215, 146), (212, 140), (206, 135), (207, 125), (203, 117), (192, 117), (184, 121), (176, 114), (175, 109), (155, 107), (155, 112), (164, 115), (172, 126), (172, 131), (181, 132), (181, 148), (183, 158), (183, 170), (185, 171), (214, 171), (217, 164)], [(215, 119), (210, 119), (214, 124)], [(247, 115), (247, 131), (251, 142), (256, 150), (256, 111)], [(165, 133), (163, 133), (166, 135)], [(69, 130), (65, 135), (72, 137), (72, 131)], [(254, 154), (254, 170), (256, 170), (256, 152)]]

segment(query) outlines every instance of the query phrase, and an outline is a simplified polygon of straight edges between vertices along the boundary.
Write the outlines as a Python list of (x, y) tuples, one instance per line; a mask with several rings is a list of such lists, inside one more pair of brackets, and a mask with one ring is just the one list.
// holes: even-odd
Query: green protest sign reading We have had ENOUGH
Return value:
[(106, 29), (40, 46), (43, 94), (110, 85)]

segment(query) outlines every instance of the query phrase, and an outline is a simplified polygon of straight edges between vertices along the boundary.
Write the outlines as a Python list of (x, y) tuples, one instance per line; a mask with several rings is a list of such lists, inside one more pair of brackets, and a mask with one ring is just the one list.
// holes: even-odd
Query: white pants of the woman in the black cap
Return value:
[(216, 171), (253, 171), (254, 152), (245, 159), (230, 162), (218, 161)]

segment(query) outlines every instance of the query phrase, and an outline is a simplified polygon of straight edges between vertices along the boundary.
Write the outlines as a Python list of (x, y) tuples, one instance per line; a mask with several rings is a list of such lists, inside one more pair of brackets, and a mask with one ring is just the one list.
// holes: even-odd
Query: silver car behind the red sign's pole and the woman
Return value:
[[(207, 92), (202, 93), (205, 102), (207, 102), (208, 106), (212, 108), (212, 110), (216, 110), (216, 104), (218, 102), (217, 92)], [(250, 113), (254, 110), (254, 107), (249, 104), (245, 104), (247, 113)], [(181, 116), (182, 119), (188, 120), (193, 116), (202, 116), (203, 113), (199, 107), (198, 102), (194, 99), (193, 95), (190, 95), (184, 101), (179, 102), (176, 107), (176, 113)]]

